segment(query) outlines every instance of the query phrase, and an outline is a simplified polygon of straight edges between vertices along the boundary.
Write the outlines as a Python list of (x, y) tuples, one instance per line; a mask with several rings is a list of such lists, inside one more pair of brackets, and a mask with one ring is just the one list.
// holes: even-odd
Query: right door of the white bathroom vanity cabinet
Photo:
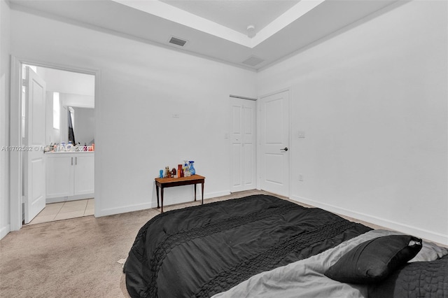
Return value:
[(80, 153), (75, 155), (74, 194), (94, 193), (94, 155)]

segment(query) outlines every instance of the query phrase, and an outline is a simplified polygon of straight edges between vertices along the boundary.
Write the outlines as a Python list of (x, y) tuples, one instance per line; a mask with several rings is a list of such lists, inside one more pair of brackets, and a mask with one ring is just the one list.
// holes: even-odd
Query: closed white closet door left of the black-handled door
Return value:
[(253, 190), (256, 187), (256, 102), (230, 98), (231, 167), (230, 192)]

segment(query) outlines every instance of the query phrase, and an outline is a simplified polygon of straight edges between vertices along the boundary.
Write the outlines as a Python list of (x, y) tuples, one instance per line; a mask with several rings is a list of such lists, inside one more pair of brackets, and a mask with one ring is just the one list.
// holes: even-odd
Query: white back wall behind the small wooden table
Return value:
[[(229, 193), (229, 94), (255, 97), (255, 72), (18, 9), (11, 52), (98, 71), (96, 216), (157, 206), (154, 178), (183, 159), (206, 176), (205, 198)], [(165, 191), (165, 204), (192, 199), (191, 186)]]

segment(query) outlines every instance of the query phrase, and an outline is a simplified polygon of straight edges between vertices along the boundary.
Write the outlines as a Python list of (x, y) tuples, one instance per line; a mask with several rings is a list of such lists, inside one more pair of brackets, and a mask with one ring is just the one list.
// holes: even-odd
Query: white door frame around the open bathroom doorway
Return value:
[[(35, 59), (25, 59), (11, 55), (11, 78), (10, 78), (10, 146), (22, 146), (22, 121), (20, 118), (22, 111), (22, 64), (30, 64), (61, 71), (71, 71), (75, 73), (85, 73), (94, 76), (94, 104), (95, 104), (95, 143), (98, 143), (97, 124), (100, 106), (100, 71), (98, 69), (85, 69), (76, 66), (55, 64), (52, 62), (42, 62)], [(99, 157), (99, 158), (98, 158)], [(95, 152), (95, 169), (99, 168), (101, 154)], [(98, 212), (101, 194), (97, 171), (95, 171), (95, 213)], [(99, 178), (99, 177), (98, 177)], [(10, 152), (10, 231), (18, 231), (22, 227), (22, 152), (11, 150)]]

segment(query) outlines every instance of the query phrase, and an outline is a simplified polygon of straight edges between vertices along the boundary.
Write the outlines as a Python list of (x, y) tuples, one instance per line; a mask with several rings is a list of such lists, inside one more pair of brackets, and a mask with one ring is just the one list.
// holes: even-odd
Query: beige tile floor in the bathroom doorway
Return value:
[(94, 214), (94, 199), (80, 199), (77, 201), (62, 201), (59, 203), (46, 204), (28, 225), (41, 222), (52, 222), (55, 220), (66, 220), (69, 218), (80, 218)]

